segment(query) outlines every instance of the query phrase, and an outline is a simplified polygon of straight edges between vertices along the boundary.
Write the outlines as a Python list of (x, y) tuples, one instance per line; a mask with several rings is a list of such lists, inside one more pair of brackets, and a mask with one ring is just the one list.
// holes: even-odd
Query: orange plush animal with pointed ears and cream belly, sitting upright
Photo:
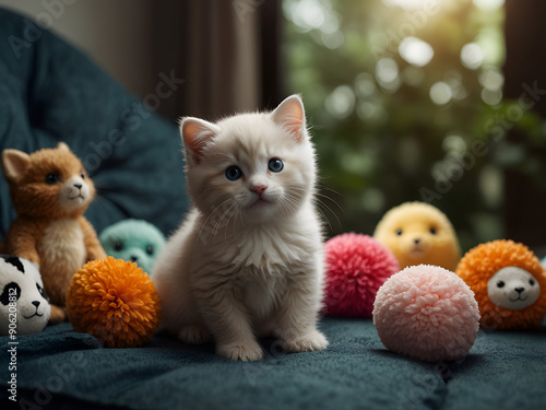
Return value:
[(19, 214), (3, 250), (39, 266), (51, 298), (50, 323), (62, 321), (72, 276), (86, 261), (106, 258), (95, 230), (83, 216), (95, 186), (63, 142), (32, 154), (3, 150), (2, 168)]

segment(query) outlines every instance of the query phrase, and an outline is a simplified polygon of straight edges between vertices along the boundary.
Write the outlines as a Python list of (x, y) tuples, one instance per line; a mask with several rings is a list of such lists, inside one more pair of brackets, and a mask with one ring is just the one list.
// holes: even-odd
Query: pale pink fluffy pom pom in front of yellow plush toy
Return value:
[(479, 311), (474, 292), (455, 273), (411, 266), (379, 289), (373, 325), (393, 352), (427, 362), (464, 358), (476, 340)]

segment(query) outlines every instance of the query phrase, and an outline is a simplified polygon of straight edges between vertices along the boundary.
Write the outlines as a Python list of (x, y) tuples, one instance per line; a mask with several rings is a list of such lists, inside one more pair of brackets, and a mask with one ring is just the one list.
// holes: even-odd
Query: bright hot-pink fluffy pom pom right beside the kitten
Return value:
[(329, 315), (371, 317), (376, 293), (400, 269), (391, 250), (368, 235), (343, 234), (324, 244)]

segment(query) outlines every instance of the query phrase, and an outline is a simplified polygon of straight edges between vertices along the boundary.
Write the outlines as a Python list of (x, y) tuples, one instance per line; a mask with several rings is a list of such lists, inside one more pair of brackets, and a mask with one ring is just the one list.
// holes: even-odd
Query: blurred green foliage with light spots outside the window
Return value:
[(425, 200), (463, 250), (502, 237), (502, 169), (544, 166), (506, 132), (523, 127), (537, 144), (546, 133), (502, 98), (502, 1), (284, 0), (283, 10), (288, 89), (304, 96), (330, 234), (371, 235), (390, 208)]

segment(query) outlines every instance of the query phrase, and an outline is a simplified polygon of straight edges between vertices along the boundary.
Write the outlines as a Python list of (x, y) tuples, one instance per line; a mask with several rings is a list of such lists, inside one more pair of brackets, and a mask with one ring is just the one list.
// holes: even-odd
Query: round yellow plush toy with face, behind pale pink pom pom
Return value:
[(438, 208), (425, 202), (406, 202), (387, 212), (373, 237), (392, 250), (404, 269), (413, 265), (436, 265), (454, 271), (461, 248), (451, 222)]

